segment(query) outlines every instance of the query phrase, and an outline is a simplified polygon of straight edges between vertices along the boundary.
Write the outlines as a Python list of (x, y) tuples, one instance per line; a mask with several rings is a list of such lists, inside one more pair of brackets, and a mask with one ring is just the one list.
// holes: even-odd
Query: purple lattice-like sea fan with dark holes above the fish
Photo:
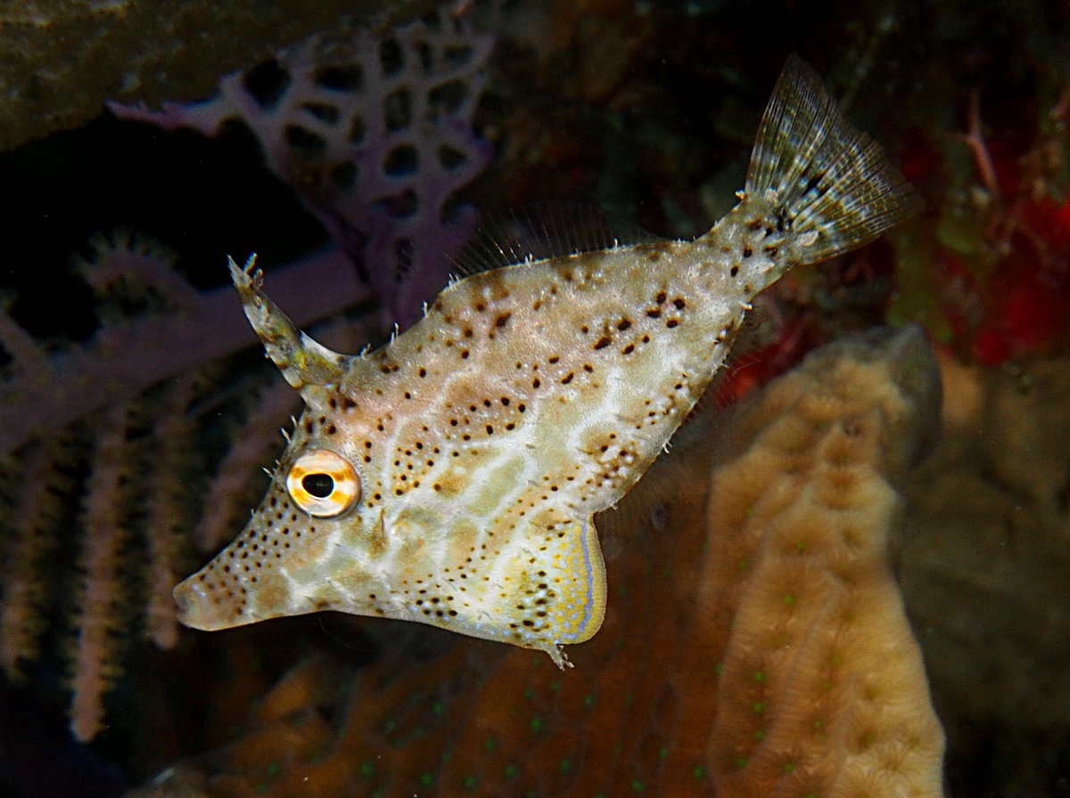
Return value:
[(470, 124), (492, 47), (491, 34), (440, 11), (382, 36), (314, 36), (225, 76), (204, 103), (109, 107), (207, 136), (245, 122), (403, 328), (445, 285), (476, 226), (475, 209), (454, 194), (493, 154)]

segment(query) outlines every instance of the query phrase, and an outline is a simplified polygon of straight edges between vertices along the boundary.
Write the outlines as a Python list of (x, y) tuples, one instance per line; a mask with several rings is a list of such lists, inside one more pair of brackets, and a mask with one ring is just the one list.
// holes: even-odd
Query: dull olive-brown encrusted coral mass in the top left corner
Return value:
[[(421, 0), (302, 2), (250, 0), (71, 3), (33, 0), (0, 11), (0, 148), (74, 127), (104, 100), (156, 104), (207, 96), (219, 75), (339, 18), (406, 19)], [(189, 35), (196, 31), (196, 35)]]

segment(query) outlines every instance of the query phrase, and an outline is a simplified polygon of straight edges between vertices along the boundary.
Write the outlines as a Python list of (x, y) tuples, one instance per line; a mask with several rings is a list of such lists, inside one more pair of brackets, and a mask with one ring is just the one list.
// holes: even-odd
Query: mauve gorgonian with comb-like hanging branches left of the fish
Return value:
[[(250, 343), (229, 286), (197, 291), (158, 246), (129, 233), (98, 237), (93, 246), (90, 260), (77, 261), (97, 301), (100, 327), (88, 342), (57, 347), (0, 315), (11, 357), (0, 390), (4, 443), (12, 450), (0, 467), (7, 497), (0, 518), (7, 537), (0, 662), (18, 682), (27, 662), (50, 661), (41, 641), (56, 616), (67, 614), (60, 648), (72, 731), (80, 740), (104, 725), (104, 698), (135, 645), (134, 632), (160, 648), (175, 644), (171, 589), (196, 562), (189, 533), (198, 520), (203, 527), (211, 518), (224, 530), (234, 520), (203, 499), (205, 492), (225, 499), (248, 480), (231, 465), (208, 488), (210, 442), (217, 448), (227, 431), (205, 418), (205, 403), (215, 410), (228, 404), (213, 397), (220, 380), (233, 394), (229, 404), (241, 405), (265, 379), (235, 377), (218, 364)], [(308, 320), (364, 296), (348, 263), (330, 253), (278, 273), (288, 276), (291, 298)], [(230, 316), (243, 324), (228, 325)], [(374, 322), (343, 327), (357, 345), (378, 329)], [(217, 365), (209, 377), (203, 364), (212, 361)], [(239, 445), (227, 463), (241, 460), (236, 452), (263, 453), (273, 440), (281, 442), (277, 429), (286, 414), (254, 412), (254, 426), (235, 431)]]

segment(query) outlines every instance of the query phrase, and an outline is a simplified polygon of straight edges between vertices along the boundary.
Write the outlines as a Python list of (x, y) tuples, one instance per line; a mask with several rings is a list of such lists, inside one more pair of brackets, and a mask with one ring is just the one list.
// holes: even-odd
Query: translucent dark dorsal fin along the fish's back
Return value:
[(607, 222), (591, 205), (536, 203), (485, 215), (475, 236), (454, 260), (454, 273), (470, 277), (528, 260), (544, 261), (655, 240), (656, 236), (641, 230)]

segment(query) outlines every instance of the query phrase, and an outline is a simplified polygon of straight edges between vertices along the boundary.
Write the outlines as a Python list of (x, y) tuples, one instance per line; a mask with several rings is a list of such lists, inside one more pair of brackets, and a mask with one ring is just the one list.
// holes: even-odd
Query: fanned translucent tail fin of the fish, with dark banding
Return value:
[(923, 204), (881, 145), (844, 119), (813, 67), (794, 54), (762, 116), (746, 190), (769, 198), (804, 240), (816, 234), (795, 248), (799, 263), (866, 244)]

